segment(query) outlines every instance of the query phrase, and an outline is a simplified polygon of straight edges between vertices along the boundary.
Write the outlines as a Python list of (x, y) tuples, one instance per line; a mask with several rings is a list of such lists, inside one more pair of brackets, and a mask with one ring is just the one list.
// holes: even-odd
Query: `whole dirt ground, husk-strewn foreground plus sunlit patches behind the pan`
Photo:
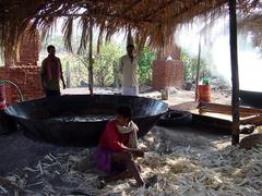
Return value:
[[(96, 93), (102, 90), (108, 89)], [(159, 99), (160, 93), (145, 90), (141, 96)], [(166, 102), (181, 110), (196, 106), (193, 91), (178, 89)], [(212, 102), (229, 103), (230, 97), (213, 93)], [(28, 139), (21, 132), (0, 136), (0, 175), (24, 195), (262, 194), (261, 146), (249, 151), (233, 147), (230, 135), (215, 128), (154, 126), (140, 139), (140, 147), (146, 151), (144, 159), (138, 160), (142, 176), (158, 175), (158, 182), (148, 189), (136, 188), (133, 180), (99, 189), (97, 176), (103, 173), (94, 167), (94, 148), (59, 147)], [(1, 182), (0, 195), (16, 193), (16, 187)]]

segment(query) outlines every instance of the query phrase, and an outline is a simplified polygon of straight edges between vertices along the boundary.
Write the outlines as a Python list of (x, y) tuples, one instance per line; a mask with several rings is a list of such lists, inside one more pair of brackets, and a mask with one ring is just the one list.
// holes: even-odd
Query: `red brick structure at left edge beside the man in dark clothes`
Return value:
[[(0, 79), (11, 81), (19, 86), (24, 100), (43, 97), (40, 85), (40, 68), (37, 66), (39, 53), (39, 38), (26, 37), (23, 39), (20, 51), (20, 61), (10, 64), (5, 60), (5, 65), (0, 68)], [(19, 101), (17, 89), (5, 85), (7, 103), (11, 105)]]

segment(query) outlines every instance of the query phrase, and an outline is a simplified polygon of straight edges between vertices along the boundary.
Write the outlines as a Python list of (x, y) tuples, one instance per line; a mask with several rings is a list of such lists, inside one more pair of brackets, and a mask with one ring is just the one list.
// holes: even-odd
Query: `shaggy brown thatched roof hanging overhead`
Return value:
[[(88, 29), (99, 29), (103, 38), (119, 30), (132, 29), (141, 48), (145, 40), (152, 47), (172, 44), (177, 25), (194, 16), (219, 14), (227, 0), (0, 0), (0, 47), (8, 54), (15, 53), (23, 33), (40, 29), (45, 36), (60, 16), (66, 17), (63, 34), (71, 50), (72, 24), (79, 19), (82, 26), (80, 50), (86, 47)], [(258, 0), (241, 0), (240, 4), (258, 4)], [(251, 4), (252, 5), (252, 4)]]

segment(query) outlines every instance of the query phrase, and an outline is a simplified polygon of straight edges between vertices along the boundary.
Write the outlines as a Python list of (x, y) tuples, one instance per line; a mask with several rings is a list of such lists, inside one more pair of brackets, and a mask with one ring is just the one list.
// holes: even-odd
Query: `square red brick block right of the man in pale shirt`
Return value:
[(167, 86), (183, 88), (182, 62), (180, 60), (155, 60), (152, 86), (156, 89), (164, 89)]

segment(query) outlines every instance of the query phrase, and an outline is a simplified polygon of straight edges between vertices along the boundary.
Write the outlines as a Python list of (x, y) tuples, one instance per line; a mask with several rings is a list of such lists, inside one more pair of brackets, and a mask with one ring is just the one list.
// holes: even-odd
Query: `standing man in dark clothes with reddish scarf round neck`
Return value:
[(48, 57), (41, 62), (41, 85), (46, 97), (60, 96), (60, 79), (62, 81), (63, 89), (66, 83), (62, 75), (61, 61), (57, 58), (56, 48), (52, 45), (47, 47)]

